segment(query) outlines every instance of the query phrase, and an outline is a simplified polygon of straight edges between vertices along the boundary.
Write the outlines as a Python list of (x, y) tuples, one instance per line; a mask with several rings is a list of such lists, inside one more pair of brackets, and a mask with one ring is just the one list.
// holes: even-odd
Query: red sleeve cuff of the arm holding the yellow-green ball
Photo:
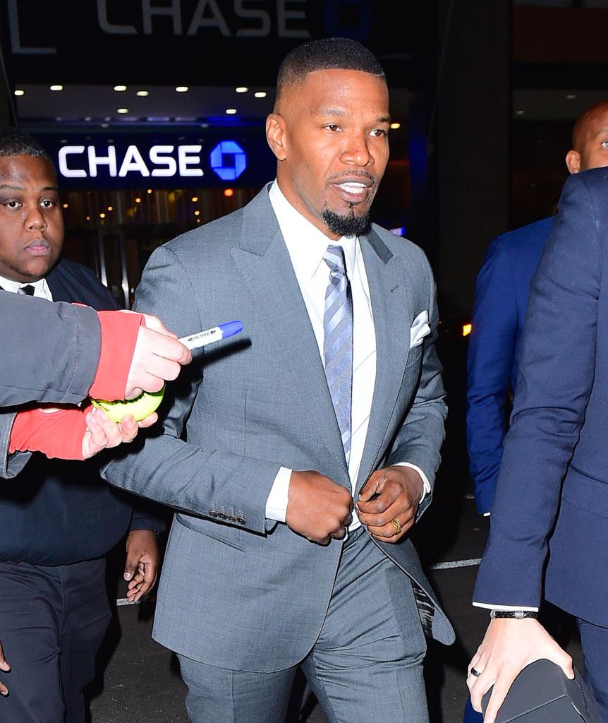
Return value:
[(82, 438), (87, 431), (85, 414), (92, 405), (82, 409), (61, 409), (45, 414), (28, 409), (14, 419), (9, 453), (42, 452), (48, 458), (82, 460)]

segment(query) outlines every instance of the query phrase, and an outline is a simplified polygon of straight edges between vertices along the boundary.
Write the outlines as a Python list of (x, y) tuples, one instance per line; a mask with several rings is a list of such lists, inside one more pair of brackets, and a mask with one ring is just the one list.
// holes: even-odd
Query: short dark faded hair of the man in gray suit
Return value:
[(378, 58), (351, 38), (320, 38), (293, 48), (279, 66), (277, 98), (287, 85), (304, 82), (315, 70), (362, 70), (377, 75), (386, 82)]

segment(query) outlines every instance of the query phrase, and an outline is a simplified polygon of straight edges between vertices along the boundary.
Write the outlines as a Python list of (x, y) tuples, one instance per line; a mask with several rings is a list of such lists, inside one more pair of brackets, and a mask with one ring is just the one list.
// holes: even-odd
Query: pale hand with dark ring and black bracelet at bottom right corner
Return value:
[[(570, 679), (574, 677), (572, 658), (547, 633), (538, 620), (514, 620), (503, 617), (490, 620), (485, 638), (469, 663), (466, 685), (471, 692), (471, 703), (476, 711), (482, 710), (482, 697), (492, 685), (492, 696), (487, 704), (484, 723), (494, 723), (511, 683), (526, 665), (547, 658), (559, 665)], [(471, 668), (479, 677), (471, 674)]]

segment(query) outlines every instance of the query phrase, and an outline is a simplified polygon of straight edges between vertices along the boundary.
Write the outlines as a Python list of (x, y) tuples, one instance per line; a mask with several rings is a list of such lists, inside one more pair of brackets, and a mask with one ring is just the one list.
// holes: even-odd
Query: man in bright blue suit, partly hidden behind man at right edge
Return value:
[[(608, 166), (608, 101), (589, 108), (573, 129), (570, 174)], [(516, 388), (530, 280), (554, 217), (498, 236), (477, 275), (467, 356), (466, 442), (477, 511), (489, 515), (505, 436), (505, 406)]]

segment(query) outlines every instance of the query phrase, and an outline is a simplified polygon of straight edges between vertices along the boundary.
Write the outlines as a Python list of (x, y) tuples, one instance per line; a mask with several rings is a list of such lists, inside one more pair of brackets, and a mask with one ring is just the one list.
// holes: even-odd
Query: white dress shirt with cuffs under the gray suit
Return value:
[[(324, 361), (325, 293), (329, 284), (329, 266), (323, 260), (323, 254), (329, 246), (341, 246), (344, 249), (352, 294), (353, 317), (351, 442), (348, 473), (354, 495), (365, 438), (368, 434), (375, 385), (375, 329), (370, 287), (359, 239), (356, 236), (342, 236), (338, 241), (329, 239), (293, 208), (282, 194), (276, 181), (269, 191), (269, 198), (283, 239), (285, 239), (295, 276), (298, 279), (310, 324), (315, 333), (321, 361)], [(425, 493), (430, 492), (430, 484), (422, 470), (405, 461), (402, 464), (415, 469), (424, 482)], [(291, 473), (291, 469), (282, 467), (274, 480), (268, 500), (266, 500), (266, 517), (271, 520), (285, 522)], [(355, 510), (349, 529), (354, 530), (359, 526), (360, 522)]]

